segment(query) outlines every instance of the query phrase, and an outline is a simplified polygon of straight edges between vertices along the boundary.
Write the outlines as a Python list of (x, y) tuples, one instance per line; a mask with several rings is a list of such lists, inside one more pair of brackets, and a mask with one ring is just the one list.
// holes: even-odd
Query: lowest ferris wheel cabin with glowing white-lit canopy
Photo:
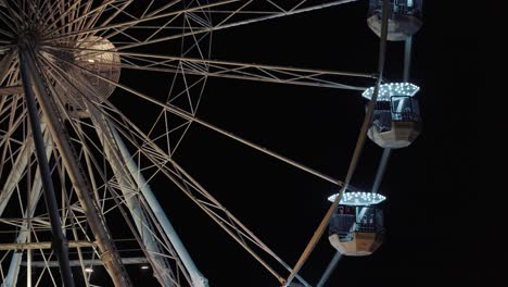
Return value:
[[(333, 201), (335, 196), (329, 200)], [(383, 212), (377, 205), (384, 199), (379, 194), (344, 192), (329, 223), (330, 244), (344, 255), (374, 252), (384, 238)]]

